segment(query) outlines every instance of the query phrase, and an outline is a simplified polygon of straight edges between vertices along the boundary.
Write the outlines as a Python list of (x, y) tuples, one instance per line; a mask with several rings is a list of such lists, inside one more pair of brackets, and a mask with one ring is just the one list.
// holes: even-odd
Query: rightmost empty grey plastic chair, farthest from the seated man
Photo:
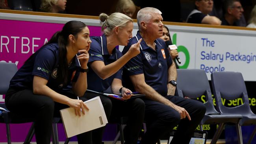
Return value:
[[(241, 126), (256, 125), (256, 114), (252, 113), (249, 105), (247, 90), (243, 76), (240, 72), (213, 72), (211, 74), (213, 94), (216, 98), (217, 111), (221, 113), (241, 114), (237, 129), (239, 130), (239, 143), (243, 143)], [(221, 98), (226, 100), (243, 99), (243, 104), (236, 107), (226, 107), (222, 104)], [(255, 135), (252, 133), (249, 144)]]

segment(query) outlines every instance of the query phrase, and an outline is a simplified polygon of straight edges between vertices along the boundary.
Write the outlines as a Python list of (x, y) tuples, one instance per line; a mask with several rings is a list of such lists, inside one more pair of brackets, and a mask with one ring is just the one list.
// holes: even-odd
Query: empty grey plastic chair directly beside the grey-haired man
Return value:
[[(211, 89), (208, 78), (204, 70), (200, 69), (177, 69), (177, 86), (176, 93), (181, 97), (188, 97), (192, 99), (199, 98), (202, 95), (206, 96), (206, 113), (200, 122), (200, 131), (202, 131), (203, 124), (220, 124), (215, 132), (211, 144), (215, 144), (223, 131), (226, 123), (238, 124), (242, 118), (241, 114), (219, 113), (215, 110), (213, 105), (213, 98), (211, 96)], [(239, 133), (237, 131), (237, 133)]]

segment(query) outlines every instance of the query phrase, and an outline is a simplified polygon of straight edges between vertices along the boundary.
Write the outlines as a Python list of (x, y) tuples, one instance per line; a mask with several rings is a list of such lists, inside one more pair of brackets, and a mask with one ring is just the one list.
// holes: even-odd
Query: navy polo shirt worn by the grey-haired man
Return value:
[[(130, 39), (127, 46), (124, 47), (122, 54), (125, 54), (132, 44), (141, 39), (139, 31), (137, 35)], [(145, 82), (162, 96), (167, 95), (167, 78), (168, 68), (173, 63), (165, 42), (161, 39), (156, 39), (156, 50), (149, 47), (144, 40), (140, 44), (140, 54), (133, 57), (124, 65), (123, 79), (125, 86), (132, 89), (132, 83), (129, 76), (144, 74)]]

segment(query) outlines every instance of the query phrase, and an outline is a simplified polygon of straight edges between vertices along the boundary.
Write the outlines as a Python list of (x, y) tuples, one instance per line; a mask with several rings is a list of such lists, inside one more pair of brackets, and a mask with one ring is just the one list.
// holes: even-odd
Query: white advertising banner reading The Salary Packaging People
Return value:
[(256, 81), (256, 31), (188, 26), (169, 27), (178, 46), (180, 68), (241, 72), (245, 81)]

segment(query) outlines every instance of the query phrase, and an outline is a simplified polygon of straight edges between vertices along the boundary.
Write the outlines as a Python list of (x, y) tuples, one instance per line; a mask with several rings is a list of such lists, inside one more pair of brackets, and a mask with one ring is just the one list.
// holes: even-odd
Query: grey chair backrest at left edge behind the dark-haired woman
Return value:
[(0, 94), (6, 94), (10, 81), (17, 70), (15, 63), (0, 62)]

